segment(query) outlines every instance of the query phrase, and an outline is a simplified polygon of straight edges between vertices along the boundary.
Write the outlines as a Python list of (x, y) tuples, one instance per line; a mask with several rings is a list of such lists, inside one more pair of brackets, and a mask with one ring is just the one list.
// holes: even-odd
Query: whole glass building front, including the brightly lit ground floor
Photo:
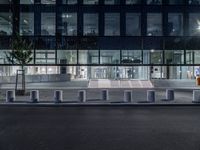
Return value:
[[(57, 16), (57, 11), (54, 9), (57, 6), (55, 0), (19, 0), (19, 2), (23, 4), (20, 6), (22, 12), (19, 13), (19, 22), (17, 22), (19, 23), (17, 26), (19, 25), (20, 35), (24, 38), (33, 37), (35, 41), (34, 61), (31, 64), (36, 66), (27, 67), (28, 74), (63, 74), (65, 72), (65, 74), (72, 74), (74, 78), (146, 79), (147, 76), (143, 75), (146, 73), (155, 79), (192, 79), (195, 76), (195, 69), (199, 67), (200, 13), (197, 9), (188, 9), (188, 15), (183, 15), (181, 9), (180, 11), (169, 9), (169, 12), (162, 12), (162, 9), (156, 11), (149, 9), (151, 7), (160, 8), (160, 6), (150, 5), (162, 5), (165, 2), (164, 0), (146, 0), (142, 3), (141, 0), (121, 1), (123, 4), (129, 5), (124, 6), (124, 8), (128, 8), (127, 11), (123, 10), (123, 7), (116, 6), (116, 9), (114, 9), (115, 7), (108, 6), (120, 5), (120, 0), (83, 0), (81, 5), (87, 6), (81, 7), (88, 7), (92, 11), (89, 9), (89, 11), (84, 11), (83, 9), (83, 11), (77, 12), (77, 0), (61, 0), (58, 7), (65, 11), (59, 12), (59, 16)], [(169, 0), (167, 1), (169, 5), (166, 7), (174, 9), (175, 7), (170, 5), (184, 5), (184, 7), (193, 8), (193, 6), (187, 5), (199, 5), (199, 2), (200, 0)], [(36, 5), (38, 8), (41, 7), (39, 13), (28, 12), (29, 8), (30, 11), (35, 11), (35, 8), (33, 9), (34, 3), (42, 4)], [(0, 4), (11, 4), (11, 0), (2, 0)], [(61, 4), (64, 5), (60, 6)], [(106, 11), (101, 12), (102, 14), (93, 11), (92, 7), (96, 7), (94, 5), (98, 4), (105, 7)], [(140, 4), (147, 5), (144, 6), (144, 12), (139, 11), (139, 9), (137, 11), (140, 6), (130, 6)], [(69, 6), (68, 9), (68, 5), (73, 6)], [(16, 14), (13, 15), (10, 10), (6, 12), (7, 7), (10, 6), (5, 5), (5, 10), (2, 9), (0, 12), (1, 41), (4, 41), (4, 38), (9, 39), (13, 33), (12, 30), (16, 27), (13, 25), (13, 17)], [(195, 6), (195, 8), (197, 7)], [(148, 8), (147, 11), (146, 8)], [(41, 20), (35, 18), (39, 15), (41, 15)], [(121, 18), (123, 15), (125, 15), (125, 18)], [(142, 19), (141, 15), (147, 16), (145, 17), (147, 20)], [(184, 18), (185, 16), (186, 18)], [(183, 28), (184, 20), (188, 21), (188, 25), (184, 25)], [(56, 22), (58, 22), (58, 36), (56, 35)], [(100, 26), (102, 23), (104, 23), (103, 27)], [(164, 33), (167, 37), (163, 36), (163, 23), (166, 23), (164, 24), (166, 29)], [(38, 27), (38, 25), (41, 27)], [(80, 25), (81, 27), (79, 27)], [(146, 27), (145, 31), (142, 30), (142, 27)], [(122, 36), (120, 36), (120, 33), (122, 33)], [(185, 43), (187, 39), (184, 39), (183, 44), (179, 43), (182, 40), (183, 33), (188, 33), (187, 39), (192, 41), (192, 44), (187, 45)], [(34, 37), (35, 34), (37, 34), (36, 37)], [(143, 36), (140, 36), (144, 34), (148, 36), (145, 38), (151, 42), (142, 40)], [(83, 40), (77, 40), (77, 35), (83, 35), (84, 37), (81, 37)], [(91, 45), (88, 46), (84, 43), (86, 38), (99, 35), (101, 37), (95, 37), (97, 38), (96, 47), (92, 48)], [(54, 39), (54, 41), (43, 42), (45, 38)], [(71, 40), (73, 38), (77, 45)], [(129, 38), (131, 42), (128, 42), (127, 39)], [(115, 42), (115, 39), (120, 42)], [(176, 42), (174, 45), (170, 45), (167, 39)], [(193, 39), (197, 41), (197, 44), (193, 44)], [(70, 40), (72, 45), (75, 46), (70, 45)], [(105, 41), (105, 45), (101, 41)], [(0, 64), (8, 64), (4, 56), (4, 51), (9, 51), (9, 46), (5, 46), (7, 43), (0, 42), (2, 46)], [(141, 50), (141, 47), (144, 50)], [(165, 49), (165, 47), (167, 48)], [(56, 66), (57, 64), (58, 66)], [(142, 66), (143, 64), (144, 66)], [(189, 66), (181, 66), (187, 64)], [(196, 66), (192, 66), (193, 64)], [(9, 69), (5, 68), (5, 66), (0, 66), (1, 75), (7, 74), (5, 71), (14, 74), (17, 69), (16, 66), (8, 67)]]

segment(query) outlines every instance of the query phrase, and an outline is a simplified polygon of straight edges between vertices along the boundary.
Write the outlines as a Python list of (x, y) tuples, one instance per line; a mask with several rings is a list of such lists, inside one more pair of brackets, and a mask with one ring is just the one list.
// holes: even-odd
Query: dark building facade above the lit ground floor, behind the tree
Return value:
[(16, 32), (34, 43), (32, 65), (64, 51), (70, 65), (200, 64), (200, 0), (1, 0), (2, 53)]

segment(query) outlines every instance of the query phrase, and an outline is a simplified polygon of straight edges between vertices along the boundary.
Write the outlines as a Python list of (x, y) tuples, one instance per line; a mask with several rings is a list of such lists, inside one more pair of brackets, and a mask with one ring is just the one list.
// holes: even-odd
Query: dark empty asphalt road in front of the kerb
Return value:
[(0, 150), (200, 150), (200, 107), (0, 107)]

